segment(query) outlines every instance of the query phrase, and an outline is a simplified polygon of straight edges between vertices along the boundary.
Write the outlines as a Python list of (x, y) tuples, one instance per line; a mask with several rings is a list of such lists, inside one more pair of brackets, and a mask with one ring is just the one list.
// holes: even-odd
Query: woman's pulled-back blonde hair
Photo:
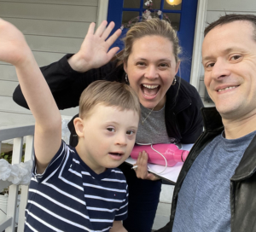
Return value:
[[(131, 26), (131, 29), (126, 33), (125, 38), (123, 38), (125, 49), (120, 59), (127, 62), (129, 55), (131, 55), (133, 43), (138, 38), (146, 36), (160, 36), (167, 38), (172, 42), (173, 55), (176, 62), (180, 61), (178, 55), (181, 53), (181, 47), (178, 44), (177, 32), (169, 22), (166, 20), (160, 20), (159, 18), (141, 21), (136, 23), (134, 26)], [(150, 45), (148, 45), (148, 49), (150, 49)]]

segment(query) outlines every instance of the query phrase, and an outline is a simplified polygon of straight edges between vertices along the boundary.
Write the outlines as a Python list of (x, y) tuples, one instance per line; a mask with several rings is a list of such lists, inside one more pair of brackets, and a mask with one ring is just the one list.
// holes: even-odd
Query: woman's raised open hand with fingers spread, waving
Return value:
[(108, 22), (106, 20), (102, 21), (102, 24), (96, 29), (96, 32), (94, 32), (95, 23), (92, 22), (90, 24), (79, 52), (68, 60), (73, 70), (84, 73), (92, 68), (102, 67), (107, 64), (119, 50), (118, 47), (114, 47), (108, 51), (113, 42), (119, 38), (122, 31), (118, 29), (108, 38), (113, 30), (114, 23), (110, 22), (108, 26), (107, 24)]

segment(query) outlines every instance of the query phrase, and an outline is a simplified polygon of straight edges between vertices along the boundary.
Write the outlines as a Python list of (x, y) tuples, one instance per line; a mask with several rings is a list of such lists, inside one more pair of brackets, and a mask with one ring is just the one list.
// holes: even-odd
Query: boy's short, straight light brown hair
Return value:
[(118, 107), (120, 110), (133, 110), (140, 116), (141, 107), (137, 94), (128, 84), (97, 80), (91, 83), (80, 96), (79, 117), (90, 117), (98, 104), (106, 107)]

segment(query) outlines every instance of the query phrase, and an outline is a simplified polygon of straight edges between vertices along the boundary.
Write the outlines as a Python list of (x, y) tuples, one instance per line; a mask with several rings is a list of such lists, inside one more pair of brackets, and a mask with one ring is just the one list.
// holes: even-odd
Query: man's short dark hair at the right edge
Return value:
[[(207, 33), (210, 32), (216, 26), (222, 26), (224, 24), (239, 20), (249, 21), (252, 23), (254, 27), (253, 39), (256, 41), (256, 15), (253, 14), (225, 14), (224, 16), (221, 16), (218, 20), (210, 23), (206, 27), (204, 36), (206, 37)], [(239, 28), (237, 28), (237, 31), (239, 31)]]

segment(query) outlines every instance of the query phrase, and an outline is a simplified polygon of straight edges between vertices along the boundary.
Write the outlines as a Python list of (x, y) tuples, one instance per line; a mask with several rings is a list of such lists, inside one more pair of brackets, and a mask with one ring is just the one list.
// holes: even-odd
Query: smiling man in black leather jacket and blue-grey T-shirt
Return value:
[[(215, 107), (177, 179), (170, 223), (158, 230), (256, 231), (256, 16), (207, 26), (205, 84)], [(217, 109), (217, 111), (216, 111)]]

